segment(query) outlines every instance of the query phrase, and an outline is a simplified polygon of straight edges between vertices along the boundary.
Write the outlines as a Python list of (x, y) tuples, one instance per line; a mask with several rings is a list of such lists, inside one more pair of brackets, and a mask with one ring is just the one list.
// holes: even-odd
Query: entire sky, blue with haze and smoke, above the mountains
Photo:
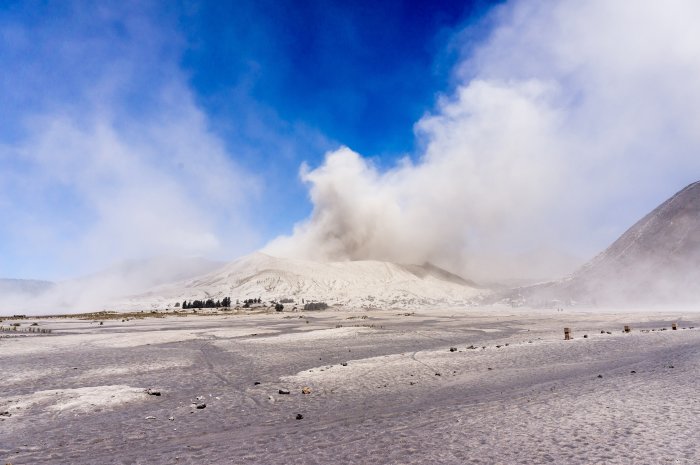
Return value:
[(700, 178), (697, 5), (0, 3), (0, 277), (570, 271)]

